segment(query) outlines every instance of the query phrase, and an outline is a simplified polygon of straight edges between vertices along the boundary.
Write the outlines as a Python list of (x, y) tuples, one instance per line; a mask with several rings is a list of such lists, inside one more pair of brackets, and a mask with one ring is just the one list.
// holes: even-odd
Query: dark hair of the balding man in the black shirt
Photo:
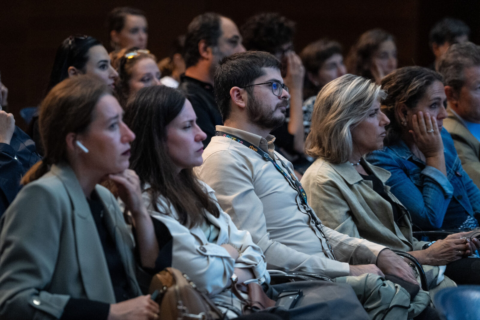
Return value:
[(218, 13), (206, 12), (197, 15), (188, 25), (183, 52), (186, 68), (196, 65), (200, 59), (198, 43), (201, 40), (205, 40), (207, 47), (216, 47), (222, 36), (221, 17)]

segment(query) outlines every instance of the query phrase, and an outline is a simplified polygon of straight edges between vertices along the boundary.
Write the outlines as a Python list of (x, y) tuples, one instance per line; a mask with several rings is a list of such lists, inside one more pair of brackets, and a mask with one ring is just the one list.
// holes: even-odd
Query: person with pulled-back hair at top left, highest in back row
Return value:
[(114, 51), (147, 47), (148, 26), (142, 10), (132, 7), (115, 8), (108, 13), (106, 25), (110, 46)]

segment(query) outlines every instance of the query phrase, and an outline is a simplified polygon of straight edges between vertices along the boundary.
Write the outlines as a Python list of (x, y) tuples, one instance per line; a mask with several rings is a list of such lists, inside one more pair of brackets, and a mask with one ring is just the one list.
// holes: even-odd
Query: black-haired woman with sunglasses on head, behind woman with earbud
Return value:
[[(48, 91), (63, 79), (79, 74), (96, 76), (112, 89), (114, 88), (118, 73), (110, 65), (107, 49), (94, 37), (69, 36), (63, 40), (55, 55)], [(38, 153), (43, 154), (43, 145), (38, 131), (38, 116), (32, 119), (29, 130)]]

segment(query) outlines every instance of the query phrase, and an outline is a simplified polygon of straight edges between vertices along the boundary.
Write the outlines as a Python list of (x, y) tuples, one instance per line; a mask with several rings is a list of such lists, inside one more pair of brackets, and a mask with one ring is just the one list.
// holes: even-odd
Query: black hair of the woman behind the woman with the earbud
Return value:
[(68, 78), (68, 68), (75, 67), (83, 71), (88, 61), (88, 50), (102, 44), (92, 36), (69, 36), (61, 43), (55, 55), (47, 92), (57, 83)]

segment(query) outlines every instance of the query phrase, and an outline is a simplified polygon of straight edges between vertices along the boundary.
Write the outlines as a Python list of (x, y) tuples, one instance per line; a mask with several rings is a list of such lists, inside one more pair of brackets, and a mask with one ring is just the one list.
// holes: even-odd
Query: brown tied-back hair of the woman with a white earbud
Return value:
[(50, 165), (68, 161), (65, 137), (69, 132), (87, 130), (98, 100), (111, 94), (105, 83), (91, 75), (67, 78), (50, 90), (40, 105), (38, 119), (45, 156), (28, 170), (22, 184), (40, 178)]

